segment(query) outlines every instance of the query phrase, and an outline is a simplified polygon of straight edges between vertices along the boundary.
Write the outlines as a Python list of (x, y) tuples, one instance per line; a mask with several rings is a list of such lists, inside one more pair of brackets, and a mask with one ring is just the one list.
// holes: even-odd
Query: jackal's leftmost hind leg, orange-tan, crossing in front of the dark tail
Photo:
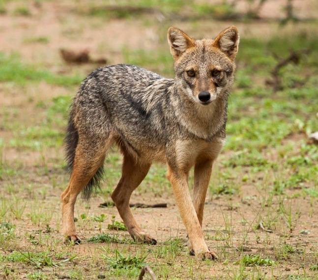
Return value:
[(74, 205), (79, 193), (86, 187), (98, 168), (104, 164), (106, 150), (112, 141), (93, 141), (80, 138), (76, 147), (73, 170), (69, 184), (61, 195), (62, 200), (62, 233), (67, 239), (80, 243), (81, 239), (75, 230)]

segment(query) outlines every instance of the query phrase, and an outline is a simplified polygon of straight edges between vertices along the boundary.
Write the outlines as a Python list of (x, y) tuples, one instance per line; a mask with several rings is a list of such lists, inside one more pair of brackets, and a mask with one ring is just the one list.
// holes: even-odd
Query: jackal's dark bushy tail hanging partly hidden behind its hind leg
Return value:
[[(67, 169), (70, 173), (72, 173), (72, 170), (73, 170), (74, 158), (75, 158), (75, 152), (76, 152), (78, 140), (79, 140), (79, 134), (74, 125), (73, 113), (71, 112), (68, 119), (66, 136), (64, 139)], [(90, 181), (87, 183), (84, 190), (82, 191), (82, 197), (84, 199), (88, 200), (91, 196), (91, 193), (94, 190), (97, 190), (100, 188), (100, 183), (103, 176), (104, 176), (104, 167), (102, 165), (97, 169), (94, 176), (90, 179)]]

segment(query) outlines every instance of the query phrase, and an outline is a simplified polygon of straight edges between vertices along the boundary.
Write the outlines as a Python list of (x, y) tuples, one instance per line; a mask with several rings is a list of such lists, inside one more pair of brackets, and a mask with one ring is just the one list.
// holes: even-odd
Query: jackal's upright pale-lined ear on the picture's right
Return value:
[(234, 60), (238, 51), (239, 35), (235, 26), (223, 30), (213, 41), (213, 47), (219, 48), (223, 53)]

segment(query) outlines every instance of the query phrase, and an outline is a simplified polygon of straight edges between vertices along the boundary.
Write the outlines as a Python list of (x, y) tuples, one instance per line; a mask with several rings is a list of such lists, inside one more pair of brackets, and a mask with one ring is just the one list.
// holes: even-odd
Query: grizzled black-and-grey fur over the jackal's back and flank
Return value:
[(138, 66), (118, 64), (92, 72), (74, 98), (75, 125), (87, 137), (110, 133), (134, 153), (164, 148), (175, 121), (173, 79)]

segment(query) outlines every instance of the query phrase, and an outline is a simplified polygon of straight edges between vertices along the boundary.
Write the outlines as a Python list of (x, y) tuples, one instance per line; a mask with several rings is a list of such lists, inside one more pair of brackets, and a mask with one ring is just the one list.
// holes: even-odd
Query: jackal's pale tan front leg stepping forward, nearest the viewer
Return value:
[(169, 166), (168, 178), (173, 187), (173, 194), (182, 221), (189, 235), (190, 251), (203, 259), (215, 259), (216, 255), (207, 248), (203, 239), (201, 225), (190, 196), (187, 172)]

